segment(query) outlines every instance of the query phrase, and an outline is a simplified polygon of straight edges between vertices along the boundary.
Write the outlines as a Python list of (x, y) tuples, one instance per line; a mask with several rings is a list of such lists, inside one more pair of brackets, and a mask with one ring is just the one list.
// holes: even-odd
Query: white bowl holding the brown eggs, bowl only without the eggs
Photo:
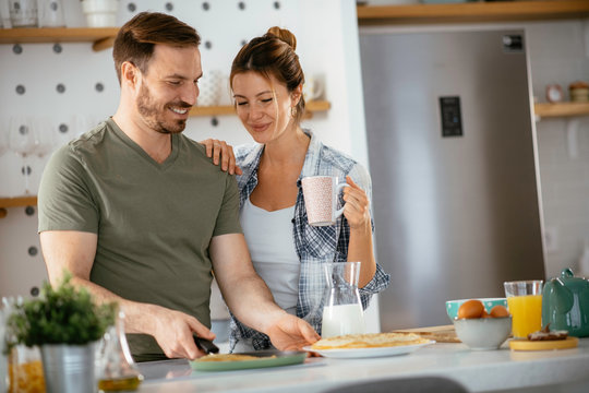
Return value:
[(512, 317), (456, 319), (454, 327), (471, 349), (497, 349), (512, 333)]

